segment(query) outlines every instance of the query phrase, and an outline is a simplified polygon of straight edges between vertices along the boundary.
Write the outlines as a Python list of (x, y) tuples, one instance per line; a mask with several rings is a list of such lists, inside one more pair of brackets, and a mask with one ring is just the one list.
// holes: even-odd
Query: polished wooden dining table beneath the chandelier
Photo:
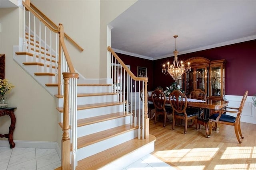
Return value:
[[(166, 100), (168, 101), (168, 102), (166, 101), (166, 105), (170, 106), (169, 98), (166, 98)], [(211, 100), (211, 99), (197, 100), (197, 99), (187, 98), (187, 100), (188, 100), (187, 107), (198, 108), (197, 123), (205, 127), (206, 137), (210, 137), (209, 131), (208, 131), (210, 112), (227, 107), (229, 102), (226, 100)], [(148, 97), (148, 101), (153, 102), (151, 97)], [(203, 117), (200, 116), (200, 109), (204, 110)], [(190, 126), (193, 126), (193, 125), (194, 125), (194, 122)]]

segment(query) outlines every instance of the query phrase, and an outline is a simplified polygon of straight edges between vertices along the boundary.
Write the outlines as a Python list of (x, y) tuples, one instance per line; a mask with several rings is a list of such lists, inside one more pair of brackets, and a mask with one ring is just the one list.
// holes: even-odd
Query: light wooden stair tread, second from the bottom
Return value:
[(138, 129), (138, 126), (134, 127), (133, 125), (126, 124), (126, 125), (114, 127), (111, 129), (107, 129), (105, 131), (100, 131), (97, 133), (79, 137), (77, 139), (77, 148), (80, 149), (80, 148), (86, 147), (88, 145), (92, 145), (94, 143), (104, 141), (111, 137), (115, 137), (115, 136), (125, 133), (127, 131), (132, 131), (134, 129)]

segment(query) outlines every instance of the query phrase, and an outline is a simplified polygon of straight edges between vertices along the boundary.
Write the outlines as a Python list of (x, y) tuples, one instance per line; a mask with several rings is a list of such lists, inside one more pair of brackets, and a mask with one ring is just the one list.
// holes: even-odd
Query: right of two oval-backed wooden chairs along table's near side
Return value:
[(188, 105), (188, 100), (185, 94), (180, 92), (179, 90), (174, 90), (169, 95), (169, 101), (172, 106), (172, 130), (174, 130), (175, 121), (177, 119), (183, 119), (185, 121), (185, 127), (184, 127), (184, 134), (187, 133), (188, 128), (188, 120), (193, 119), (196, 124), (196, 130), (197, 130), (197, 118), (198, 118), (198, 112), (186, 112), (186, 108)]

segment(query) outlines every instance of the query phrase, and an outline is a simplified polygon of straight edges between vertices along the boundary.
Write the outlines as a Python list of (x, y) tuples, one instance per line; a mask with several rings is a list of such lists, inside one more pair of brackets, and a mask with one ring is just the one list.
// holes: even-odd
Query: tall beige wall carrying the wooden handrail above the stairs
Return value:
[(100, 1), (32, 0), (55, 24), (62, 23), (67, 33), (84, 51), (65, 41), (74, 67), (85, 78), (99, 77)]

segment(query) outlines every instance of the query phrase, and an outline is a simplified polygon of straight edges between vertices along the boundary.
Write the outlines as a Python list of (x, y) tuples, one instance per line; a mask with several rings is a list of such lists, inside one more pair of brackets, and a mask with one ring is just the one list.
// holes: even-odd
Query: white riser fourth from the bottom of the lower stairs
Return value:
[(123, 111), (123, 105), (116, 105), (116, 106), (108, 106), (108, 107), (98, 107), (93, 109), (84, 109), (78, 110), (77, 112), (77, 119), (85, 119), (89, 117), (95, 117), (100, 115), (106, 115), (110, 113), (117, 113)]

